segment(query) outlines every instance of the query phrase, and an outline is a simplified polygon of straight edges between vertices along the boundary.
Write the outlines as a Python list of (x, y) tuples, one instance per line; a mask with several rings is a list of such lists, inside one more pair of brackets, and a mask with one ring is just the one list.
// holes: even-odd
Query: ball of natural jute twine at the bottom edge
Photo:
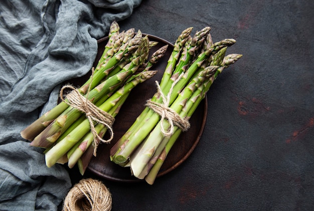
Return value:
[(81, 179), (64, 199), (63, 211), (108, 211), (112, 197), (109, 189), (99, 180)]

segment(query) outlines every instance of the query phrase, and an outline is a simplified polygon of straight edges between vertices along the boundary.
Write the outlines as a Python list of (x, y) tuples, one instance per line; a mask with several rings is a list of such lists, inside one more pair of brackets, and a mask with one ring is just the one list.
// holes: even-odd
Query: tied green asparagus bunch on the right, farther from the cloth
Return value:
[(110, 150), (113, 162), (149, 184), (218, 74), (242, 56), (226, 54), (234, 39), (213, 43), (210, 27), (191, 32), (192, 27), (180, 34), (149, 106)]

